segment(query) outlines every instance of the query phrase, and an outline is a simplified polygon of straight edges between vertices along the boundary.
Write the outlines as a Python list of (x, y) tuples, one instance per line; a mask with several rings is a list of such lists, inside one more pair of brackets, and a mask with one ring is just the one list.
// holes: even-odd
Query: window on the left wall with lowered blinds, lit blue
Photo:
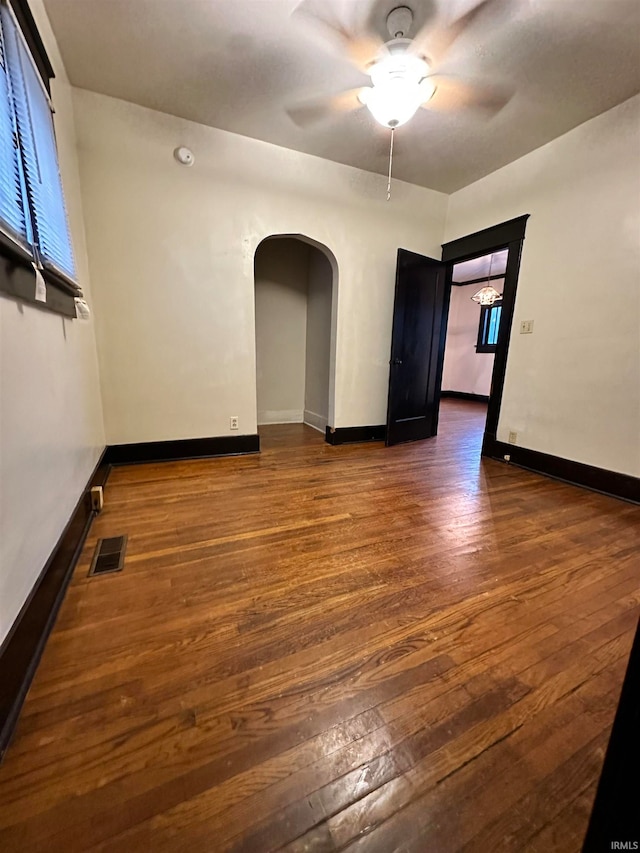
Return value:
[[(24, 16), (22, 0), (18, 11)], [(34, 282), (33, 266), (41, 271), (48, 303), (50, 287), (67, 297), (80, 291), (45, 80), (14, 10), (0, 0), (0, 254)]]

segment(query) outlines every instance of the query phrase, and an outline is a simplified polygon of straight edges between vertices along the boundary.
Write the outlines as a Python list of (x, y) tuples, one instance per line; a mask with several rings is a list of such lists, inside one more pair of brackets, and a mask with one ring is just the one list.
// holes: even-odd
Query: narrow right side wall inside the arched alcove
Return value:
[(309, 252), (304, 421), (324, 432), (329, 422), (333, 271), (318, 249)]

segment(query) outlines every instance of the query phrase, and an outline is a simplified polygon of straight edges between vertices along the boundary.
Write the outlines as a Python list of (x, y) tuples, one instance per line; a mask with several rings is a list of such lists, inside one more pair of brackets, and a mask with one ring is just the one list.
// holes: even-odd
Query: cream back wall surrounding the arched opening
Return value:
[(272, 234), (337, 259), (333, 425), (384, 423), (396, 252), (440, 256), (447, 197), (396, 182), (387, 202), (380, 175), (83, 90), (74, 105), (108, 442), (225, 435), (230, 415), (255, 432), (253, 259)]

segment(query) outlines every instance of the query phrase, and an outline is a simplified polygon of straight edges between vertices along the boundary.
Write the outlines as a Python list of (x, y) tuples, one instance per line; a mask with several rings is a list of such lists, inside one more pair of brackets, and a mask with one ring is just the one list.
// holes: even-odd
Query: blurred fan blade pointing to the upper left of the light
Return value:
[(315, 30), (325, 42), (361, 71), (366, 70), (383, 45), (382, 39), (368, 27), (366, 21), (345, 23), (326, 0), (302, 0), (293, 10), (292, 17)]

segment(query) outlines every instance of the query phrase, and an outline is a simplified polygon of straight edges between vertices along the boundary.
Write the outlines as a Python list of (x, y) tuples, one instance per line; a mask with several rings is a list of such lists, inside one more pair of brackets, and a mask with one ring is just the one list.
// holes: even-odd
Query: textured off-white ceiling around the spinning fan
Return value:
[[(298, 0), (45, 0), (71, 82), (133, 103), (373, 172), (388, 131), (365, 108), (313, 129), (308, 97), (368, 78), (291, 17)], [(400, 0), (323, 0), (338, 16)], [(435, 21), (470, 0), (406, 0)], [(419, 110), (396, 133), (394, 175), (452, 192), (640, 91), (639, 0), (496, 0), (443, 72), (516, 87), (490, 121)]]

